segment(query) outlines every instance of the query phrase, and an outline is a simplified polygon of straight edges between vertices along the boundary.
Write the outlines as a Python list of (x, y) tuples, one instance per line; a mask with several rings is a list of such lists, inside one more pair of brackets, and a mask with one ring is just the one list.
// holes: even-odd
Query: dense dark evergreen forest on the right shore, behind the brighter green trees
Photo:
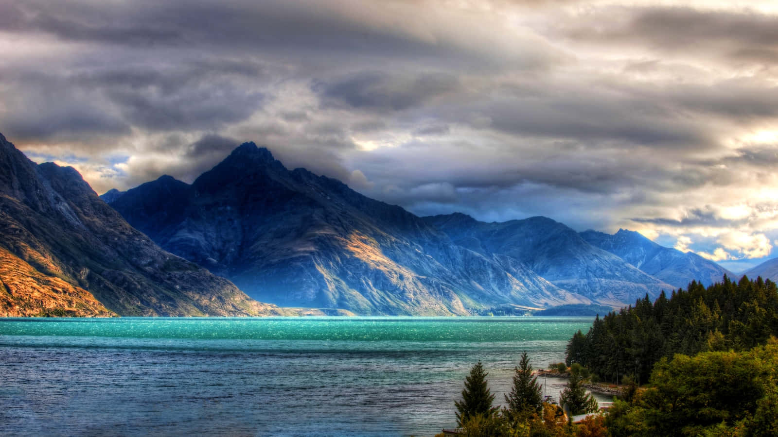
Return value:
[(654, 363), (675, 354), (745, 351), (778, 335), (778, 289), (769, 279), (733, 282), (726, 276), (705, 288), (692, 281), (671, 297), (646, 295), (635, 306), (599, 316), (587, 334), (577, 332), (566, 350), (600, 379), (647, 382)]

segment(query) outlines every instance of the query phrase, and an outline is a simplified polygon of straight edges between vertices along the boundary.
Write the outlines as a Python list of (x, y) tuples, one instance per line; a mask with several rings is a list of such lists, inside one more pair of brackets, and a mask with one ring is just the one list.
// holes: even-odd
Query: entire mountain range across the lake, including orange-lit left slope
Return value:
[(734, 277), (623, 229), (419, 217), (254, 143), (192, 184), (163, 176), (98, 198), (71, 167), (35, 164), (0, 135), (0, 229), (6, 316), (601, 309)]

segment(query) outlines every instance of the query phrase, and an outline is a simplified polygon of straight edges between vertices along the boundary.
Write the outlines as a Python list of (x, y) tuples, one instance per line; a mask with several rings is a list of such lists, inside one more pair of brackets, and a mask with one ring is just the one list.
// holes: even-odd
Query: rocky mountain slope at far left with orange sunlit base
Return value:
[(36, 165), (0, 135), (0, 315), (279, 314), (167, 253), (78, 172)]

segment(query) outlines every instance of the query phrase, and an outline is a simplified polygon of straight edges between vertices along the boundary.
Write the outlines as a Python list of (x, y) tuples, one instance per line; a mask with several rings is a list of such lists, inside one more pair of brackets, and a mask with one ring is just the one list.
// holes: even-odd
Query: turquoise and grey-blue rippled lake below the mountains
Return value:
[(0, 435), (435, 435), (479, 359), (503, 400), (591, 321), (0, 319)]

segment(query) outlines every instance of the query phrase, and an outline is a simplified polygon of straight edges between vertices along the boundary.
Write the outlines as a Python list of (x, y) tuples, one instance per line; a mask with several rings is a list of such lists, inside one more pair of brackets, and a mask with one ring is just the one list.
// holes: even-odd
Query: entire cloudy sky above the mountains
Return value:
[(418, 215), (778, 247), (778, 3), (2, 0), (0, 132), (98, 193), (241, 142)]

